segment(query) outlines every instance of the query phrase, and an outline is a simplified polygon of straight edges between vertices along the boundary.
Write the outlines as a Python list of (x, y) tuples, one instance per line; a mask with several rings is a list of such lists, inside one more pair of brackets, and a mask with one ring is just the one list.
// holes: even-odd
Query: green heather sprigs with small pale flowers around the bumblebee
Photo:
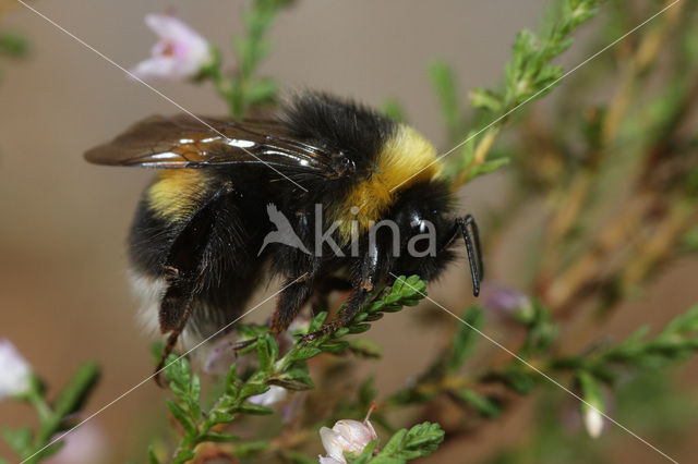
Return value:
[[(540, 32), (513, 38), (501, 82), (467, 98), (447, 61), (429, 64), (426, 77), (450, 141), (443, 152), (453, 188), (495, 171), (508, 181), (505, 203), (488, 211), (482, 228), (485, 257), (496, 254), (527, 207), (542, 212), (537, 233), (519, 240), (529, 251), (526, 259), (509, 261), (521, 276), (517, 282), (490, 285), (477, 305), (454, 313), (428, 295), (419, 276), (402, 276), (375, 289), (349, 326), (312, 341), (297, 335), (316, 331), (338, 308), (301, 317), (279, 338), (265, 325), (243, 321), (226, 339), (225, 355), (213, 352), (210, 364), (224, 369), (212, 382), (202, 381), (186, 356), (170, 355), (164, 401), (174, 439), (154, 439), (149, 462), (309, 463), (318, 454), (326, 454), (323, 463), (401, 463), (430, 454), (438, 460), (442, 443), (467, 440), (522, 402), (540, 412), (532, 439), (502, 447), (492, 462), (601, 460), (607, 441), (593, 439), (614, 427), (641, 440), (648, 453), (673, 461), (660, 451), (666, 438), (661, 431), (695, 423), (691, 413), (698, 412), (696, 400), (675, 393), (671, 382), (698, 350), (698, 306), (623, 340), (595, 335), (667, 262), (698, 249), (698, 4), (637, 3), (555, 2)], [(291, 7), (255, 0), (242, 11), (233, 66), (225, 68), (225, 53), (188, 29), (160, 40), (163, 49), (168, 40), (191, 46), (182, 56), (189, 61), (172, 63), (177, 57), (156, 53), (134, 71), (143, 78), (210, 82), (231, 115), (258, 114), (276, 103), (282, 84), (260, 75), (273, 52), (267, 34), (282, 9), (292, 14)], [(593, 37), (573, 44), (582, 25)], [(591, 59), (564, 70), (556, 59), (573, 46), (586, 47)], [(171, 69), (178, 72), (168, 74)], [(610, 97), (600, 100), (599, 94)], [(540, 99), (547, 100), (544, 110), (535, 105)], [(386, 113), (409, 120), (398, 100), (386, 101)], [(500, 280), (496, 270), (486, 279)], [(387, 394), (376, 394), (373, 377), (353, 381), (352, 395), (333, 394), (350, 365), (381, 357), (380, 344), (368, 338), (372, 326), (419, 303), (453, 317), (453, 323), (438, 322), (447, 342), (433, 362)], [(490, 335), (495, 329), (497, 335)], [(568, 340), (583, 347), (574, 351)], [(233, 344), (243, 347), (233, 352)], [(62, 396), (51, 406), (37, 381), (29, 393), (14, 395), (37, 407), (41, 420), (37, 431), (4, 430), (19, 455), (31, 462), (58, 450), (52, 437), (70, 429), (94, 378), (94, 367), (79, 373), (71, 383), (79, 387), (68, 391), (76, 389), (80, 394), (71, 398), (80, 401), (69, 406)], [(575, 422), (586, 435), (563, 436)], [(663, 430), (651, 427), (657, 422), (666, 425)], [(643, 434), (636, 435), (636, 427)]]

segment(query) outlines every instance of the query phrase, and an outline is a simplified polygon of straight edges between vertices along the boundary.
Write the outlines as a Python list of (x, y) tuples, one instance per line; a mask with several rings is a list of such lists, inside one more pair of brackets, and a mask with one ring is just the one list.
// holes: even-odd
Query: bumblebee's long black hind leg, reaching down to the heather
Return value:
[(155, 381), (160, 384), (159, 373), (174, 349), (192, 314), (194, 297), (203, 286), (206, 269), (206, 248), (216, 219), (216, 211), (225, 195), (232, 192), (226, 183), (189, 220), (168, 253), (165, 269), (167, 290), (160, 302), (160, 331), (169, 333), (160, 363), (155, 369)]

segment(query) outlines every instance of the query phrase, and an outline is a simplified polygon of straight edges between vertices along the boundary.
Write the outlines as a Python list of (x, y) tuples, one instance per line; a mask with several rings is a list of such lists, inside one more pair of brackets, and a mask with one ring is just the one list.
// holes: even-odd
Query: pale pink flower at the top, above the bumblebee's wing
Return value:
[(131, 70), (137, 77), (188, 80), (213, 61), (214, 53), (206, 39), (177, 16), (147, 14), (145, 23), (159, 41), (151, 50), (151, 58)]

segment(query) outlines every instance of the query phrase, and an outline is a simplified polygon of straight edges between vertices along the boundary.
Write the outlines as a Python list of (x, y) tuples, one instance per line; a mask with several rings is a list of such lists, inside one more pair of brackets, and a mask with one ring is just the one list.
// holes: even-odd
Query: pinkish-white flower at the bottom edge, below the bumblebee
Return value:
[[(370, 414), (370, 413), (369, 413)], [(362, 452), (371, 441), (378, 438), (366, 416), (359, 420), (338, 420), (333, 428), (320, 429), (320, 438), (327, 456), (318, 456), (321, 464), (346, 464), (345, 452)]]

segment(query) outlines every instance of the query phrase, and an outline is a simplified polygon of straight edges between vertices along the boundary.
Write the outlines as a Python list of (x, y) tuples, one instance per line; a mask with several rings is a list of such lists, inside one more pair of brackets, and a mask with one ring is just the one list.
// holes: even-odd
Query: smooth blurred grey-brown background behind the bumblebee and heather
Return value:
[[(146, 13), (173, 7), (228, 53), (243, 4), (221, 0), (32, 2), (125, 68), (146, 58), (155, 42), (143, 23)], [(462, 77), (462, 95), (474, 86), (498, 82), (514, 34), (522, 27), (535, 28), (545, 4), (544, 0), (299, 1), (281, 14), (272, 33), (274, 53), (264, 74), (285, 88), (327, 89), (373, 105), (398, 98), (414, 125), (441, 143), (443, 122), (425, 77), (426, 63), (434, 57), (450, 61)], [(0, 337), (12, 340), (51, 384), (62, 384), (81, 362), (96, 359), (104, 367), (104, 378), (87, 408), (96, 411), (152, 371), (149, 342), (135, 325), (136, 303), (125, 279), (124, 253), (131, 215), (152, 173), (89, 166), (82, 152), (135, 120), (178, 110), (25, 8), (17, 5), (1, 21), (3, 29), (22, 32), (31, 39), (32, 53), (24, 61), (2, 63)], [(573, 48), (563, 62), (575, 64), (585, 58), (581, 48)], [(156, 87), (193, 112), (226, 112), (206, 86), (156, 83)], [(477, 215), (495, 207), (503, 185), (501, 176), (478, 181), (467, 188), (464, 208)], [(516, 241), (509, 240), (496, 257), (489, 257), (497, 262), (491, 262), (490, 276), (516, 283), (516, 276), (506, 271), (516, 253)], [(642, 321), (660, 323), (672, 312), (685, 309), (698, 301), (696, 270), (696, 262), (676, 262), (604, 331), (622, 335)], [(467, 301), (466, 283), (465, 267), (455, 266), (431, 293), (459, 310)], [(260, 308), (258, 317), (266, 317), (270, 307), (268, 303)], [(421, 310), (438, 309), (410, 312)], [(437, 346), (437, 332), (418, 333), (419, 319), (410, 312), (389, 316), (390, 328), (382, 320), (370, 332), (370, 338), (385, 345), (384, 358), (366, 366), (366, 371), (381, 373), (380, 392), (399, 386), (436, 351), (430, 346)], [(423, 341), (405, 343), (416, 337)], [(146, 382), (94, 419), (105, 462), (145, 459), (151, 429), (164, 422), (163, 396), (153, 382)], [(22, 406), (0, 404), (2, 424), (19, 425), (31, 417)], [(510, 425), (516, 422), (503, 424), (470, 442), (510, 440), (518, 431)], [(144, 438), (139, 440), (139, 435)], [(466, 450), (446, 449), (443, 456), (474, 462), (482, 453), (471, 443)], [(626, 457), (663, 462), (631, 438), (624, 443)], [(666, 451), (682, 456), (682, 450)], [(689, 450), (683, 452), (688, 459)], [(8, 455), (4, 445), (0, 455)]]

